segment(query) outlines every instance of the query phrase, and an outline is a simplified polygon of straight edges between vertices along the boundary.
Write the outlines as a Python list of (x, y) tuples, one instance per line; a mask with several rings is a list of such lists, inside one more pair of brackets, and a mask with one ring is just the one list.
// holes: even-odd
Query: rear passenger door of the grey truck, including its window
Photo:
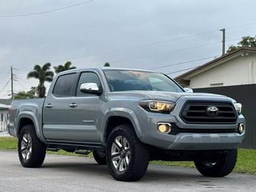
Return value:
[(63, 74), (55, 81), (51, 94), (45, 98), (43, 107), (43, 132), (46, 140), (70, 141), (68, 109), (71, 93), (75, 87), (76, 73)]

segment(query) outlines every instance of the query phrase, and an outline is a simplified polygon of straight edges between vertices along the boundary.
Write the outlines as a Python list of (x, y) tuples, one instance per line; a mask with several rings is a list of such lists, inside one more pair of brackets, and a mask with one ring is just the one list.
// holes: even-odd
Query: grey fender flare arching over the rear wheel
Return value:
[(42, 134), (42, 127), (40, 127), (39, 125), (38, 118), (36, 118), (35, 114), (32, 111), (22, 111), (18, 114), (18, 117), (15, 121), (15, 122), (18, 122), (18, 124), (15, 126), (17, 136), (18, 136), (18, 132), (20, 131), (20, 128), (22, 128), (20, 127), (22, 118), (28, 118), (32, 120), (35, 125), (35, 133), (38, 136), (38, 139), (42, 142), (46, 142), (45, 137)]

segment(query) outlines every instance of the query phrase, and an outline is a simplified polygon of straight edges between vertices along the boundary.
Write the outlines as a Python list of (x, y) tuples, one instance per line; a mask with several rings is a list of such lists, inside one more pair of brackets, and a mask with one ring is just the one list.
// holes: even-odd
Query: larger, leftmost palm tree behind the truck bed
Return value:
[(39, 84), (37, 87), (38, 97), (45, 97), (45, 81), (52, 82), (54, 76), (53, 71), (50, 71), (51, 64), (45, 63), (42, 67), (40, 65), (35, 65), (33, 71), (28, 73), (27, 78), (37, 78)]

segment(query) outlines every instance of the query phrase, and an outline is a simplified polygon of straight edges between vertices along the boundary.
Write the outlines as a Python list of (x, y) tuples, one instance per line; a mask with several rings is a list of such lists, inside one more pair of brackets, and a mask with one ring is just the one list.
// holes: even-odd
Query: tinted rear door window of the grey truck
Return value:
[(59, 98), (69, 97), (72, 86), (75, 84), (75, 77), (75, 73), (59, 76), (52, 93)]

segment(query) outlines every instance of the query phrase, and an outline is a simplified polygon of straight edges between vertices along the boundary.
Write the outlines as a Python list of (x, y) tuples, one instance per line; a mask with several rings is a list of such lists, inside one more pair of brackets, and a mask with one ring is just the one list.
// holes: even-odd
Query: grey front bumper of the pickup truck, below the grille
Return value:
[[(239, 134), (238, 125), (244, 124), (242, 114), (238, 115), (235, 124), (186, 124), (179, 117), (185, 100), (177, 101), (175, 111), (171, 114), (156, 114), (143, 111), (138, 117), (141, 127), (141, 142), (166, 150), (225, 150), (237, 148), (244, 139), (245, 131)], [(161, 134), (157, 131), (159, 122), (176, 124), (183, 132), (178, 134)], [(188, 130), (185, 132), (184, 130)], [(193, 133), (200, 130), (200, 133)], [(214, 130), (214, 133), (211, 133)], [(223, 130), (230, 130), (226, 133)], [(232, 132), (233, 130), (233, 132)], [(219, 132), (218, 132), (219, 131)]]

